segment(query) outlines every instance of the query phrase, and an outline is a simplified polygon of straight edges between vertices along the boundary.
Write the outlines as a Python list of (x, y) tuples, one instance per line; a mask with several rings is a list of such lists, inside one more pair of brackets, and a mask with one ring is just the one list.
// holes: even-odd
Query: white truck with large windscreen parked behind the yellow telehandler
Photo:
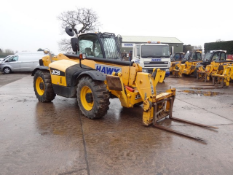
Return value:
[(166, 71), (166, 77), (170, 75), (171, 60), (168, 44), (160, 44), (159, 42), (134, 44), (132, 61), (140, 64), (143, 72), (152, 73), (154, 68), (160, 68)]

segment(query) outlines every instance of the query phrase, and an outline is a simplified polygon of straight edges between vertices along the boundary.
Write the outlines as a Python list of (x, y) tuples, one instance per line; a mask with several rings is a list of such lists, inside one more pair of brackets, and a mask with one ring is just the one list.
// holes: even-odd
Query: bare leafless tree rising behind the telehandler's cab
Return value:
[[(100, 26), (97, 14), (93, 10), (86, 8), (77, 8), (76, 11), (62, 12), (58, 16), (58, 20), (61, 21), (63, 29), (66, 27), (77, 29), (78, 34), (95, 31)], [(70, 40), (62, 39), (58, 44), (61, 51), (71, 50)]]

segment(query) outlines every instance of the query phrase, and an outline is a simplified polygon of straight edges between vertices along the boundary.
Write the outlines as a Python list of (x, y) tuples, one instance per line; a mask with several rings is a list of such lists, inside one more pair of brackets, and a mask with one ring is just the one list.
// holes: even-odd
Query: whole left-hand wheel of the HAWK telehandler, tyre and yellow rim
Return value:
[(51, 102), (56, 96), (49, 71), (37, 70), (34, 75), (33, 86), (39, 102)]

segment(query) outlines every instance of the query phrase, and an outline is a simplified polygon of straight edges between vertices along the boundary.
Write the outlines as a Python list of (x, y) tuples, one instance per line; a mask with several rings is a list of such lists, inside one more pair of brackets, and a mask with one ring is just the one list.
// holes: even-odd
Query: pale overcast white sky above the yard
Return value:
[(0, 48), (14, 52), (39, 48), (60, 53), (70, 37), (57, 17), (65, 11), (96, 12), (100, 32), (122, 36), (176, 37), (193, 46), (233, 40), (232, 0), (4, 0), (0, 6)]

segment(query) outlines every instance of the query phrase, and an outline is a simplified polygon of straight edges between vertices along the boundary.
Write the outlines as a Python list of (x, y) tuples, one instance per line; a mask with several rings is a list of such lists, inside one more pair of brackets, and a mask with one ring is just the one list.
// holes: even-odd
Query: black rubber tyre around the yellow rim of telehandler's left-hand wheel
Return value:
[[(41, 77), (44, 81), (45, 90), (44, 90), (43, 95), (39, 95), (36, 91), (36, 79), (37, 79), (37, 77)], [(54, 90), (53, 90), (51, 76), (50, 76), (50, 73), (48, 71), (42, 71), (42, 70), (36, 71), (36, 73), (34, 75), (33, 86), (34, 86), (34, 91), (35, 91), (36, 97), (42, 103), (51, 102), (56, 96), (56, 94), (54, 93)]]

